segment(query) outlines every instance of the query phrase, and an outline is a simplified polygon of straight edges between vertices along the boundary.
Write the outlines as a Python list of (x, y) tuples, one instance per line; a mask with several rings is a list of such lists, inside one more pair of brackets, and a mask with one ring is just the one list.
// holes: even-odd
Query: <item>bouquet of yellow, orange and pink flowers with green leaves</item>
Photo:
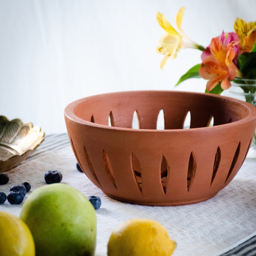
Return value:
[[(209, 46), (204, 47), (192, 41), (181, 28), (185, 7), (177, 12), (176, 26), (179, 32), (157, 12), (157, 21), (165, 30), (159, 40), (157, 53), (165, 55), (160, 67), (166, 61), (175, 59), (183, 48), (201, 50), (201, 64), (189, 69), (175, 86), (190, 78), (208, 80), (206, 93), (221, 94), (230, 87), (240, 87), (244, 100), (256, 106), (256, 21), (246, 22), (236, 18), (234, 32), (222, 32), (212, 38)], [(254, 135), (254, 144), (256, 134)]]

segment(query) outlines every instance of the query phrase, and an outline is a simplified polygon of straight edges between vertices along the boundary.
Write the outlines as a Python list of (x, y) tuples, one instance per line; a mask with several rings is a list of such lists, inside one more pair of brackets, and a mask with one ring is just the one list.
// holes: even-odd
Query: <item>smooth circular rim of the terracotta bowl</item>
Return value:
[[(247, 116), (245, 116), (244, 118), (234, 121), (234, 122), (230, 122), (230, 123), (226, 123), (226, 124), (221, 124), (221, 125), (214, 125), (214, 126), (206, 126), (206, 127), (198, 127), (198, 128), (188, 128), (188, 129), (182, 129), (182, 128), (178, 128), (178, 129), (145, 129), (145, 128), (138, 128), (138, 129), (134, 129), (134, 128), (126, 128), (126, 127), (117, 127), (117, 126), (109, 126), (109, 125), (102, 125), (102, 124), (98, 124), (95, 122), (90, 122), (87, 120), (84, 120), (82, 118), (80, 118), (79, 116), (77, 116), (74, 112), (73, 109), (76, 107), (76, 105), (78, 105), (81, 102), (96, 98), (96, 97), (102, 97), (102, 96), (106, 96), (106, 95), (116, 95), (116, 94), (120, 94), (120, 93), (183, 93), (183, 94), (192, 94), (192, 95), (201, 95), (201, 96), (206, 96), (206, 97), (212, 97), (212, 98), (218, 98), (218, 99), (226, 99), (229, 101), (233, 101), (236, 102), (240, 105), (242, 105), (247, 111), (248, 114)], [(96, 94), (96, 95), (92, 95), (92, 96), (88, 96), (88, 97), (83, 97), (81, 99), (77, 99), (73, 102), (71, 102), (70, 104), (68, 104), (65, 108), (64, 108), (64, 116), (67, 119), (70, 119), (74, 122), (80, 123), (80, 124), (84, 124), (93, 128), (102, 128), (102, 129), (107, 129), (107, 130), (116, 130), (116, 131), (129, 131), (129, 132), (159, 132), (159, 133), (168, 133), (168, 132), (195, 132), (195, 131), (207, 131), (207, 130), (212, 130), (212, 129), (221, 129), (224, 127), (228, 127), (228, 126), (234, 126), (234, 124), (239, 125), (239, 124), (243, 124), (246, 123), (252, 119), (256, 119), (256, 107), (254, 107), (253, 105), (251, 105), (248, 102), (244, 102), (241, 101), (239, 99), (235, 99), (232, 97), (227, 97), (227, 96), (222, 96), (222, 95), (217, 95), (217, 94), (211, 94), (211, 93), (199, 93), (199, 92), (188, 92), (188, 91), (171, 91), (171, 90), (128, 90), (128, 91), (118, 91), (118, 92), (111, 92), (111, 93), (100, 93), (100, 94)]]

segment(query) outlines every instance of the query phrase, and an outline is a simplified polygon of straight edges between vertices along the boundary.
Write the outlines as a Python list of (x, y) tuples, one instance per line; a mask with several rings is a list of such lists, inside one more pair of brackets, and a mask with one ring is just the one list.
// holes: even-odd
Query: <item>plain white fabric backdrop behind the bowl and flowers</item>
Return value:
[[(163, 12), (207, 46), (236, 17), (256, 20), (255, 0), (0, 0), (0, 115), (66, 132), (63, 111), (76, 99), (124, 90), (174, 90), (201, 52), (184, 49), (163, 70), (156, 53)], [(204, 92), (191, 79), (175, 90)]]

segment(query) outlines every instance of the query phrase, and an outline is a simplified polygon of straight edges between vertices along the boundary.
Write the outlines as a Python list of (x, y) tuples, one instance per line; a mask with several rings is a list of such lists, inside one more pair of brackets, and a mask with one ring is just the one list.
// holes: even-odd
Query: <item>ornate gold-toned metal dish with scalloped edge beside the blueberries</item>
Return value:
[(0, 116), (0, 173), (14, 168), (44, 141), (44, 132), (31, 122)]

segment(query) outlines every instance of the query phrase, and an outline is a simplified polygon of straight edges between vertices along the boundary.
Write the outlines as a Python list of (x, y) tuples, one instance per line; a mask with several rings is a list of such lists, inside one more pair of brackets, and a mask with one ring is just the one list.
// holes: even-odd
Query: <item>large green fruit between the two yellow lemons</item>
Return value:
[(24, 202), (20, 218), (35, 241), (36, 256), (92, 256), (96, 212), (77, 189), (63, 183), (41, 186)]

